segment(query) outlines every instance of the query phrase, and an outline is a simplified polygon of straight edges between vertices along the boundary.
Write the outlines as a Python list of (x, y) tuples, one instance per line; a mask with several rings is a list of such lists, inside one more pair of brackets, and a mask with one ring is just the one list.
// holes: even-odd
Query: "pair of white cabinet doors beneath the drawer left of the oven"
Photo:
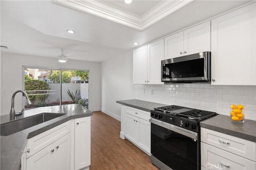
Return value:
[(150, 122), (124, 113), (124, 136), (150, 154)]

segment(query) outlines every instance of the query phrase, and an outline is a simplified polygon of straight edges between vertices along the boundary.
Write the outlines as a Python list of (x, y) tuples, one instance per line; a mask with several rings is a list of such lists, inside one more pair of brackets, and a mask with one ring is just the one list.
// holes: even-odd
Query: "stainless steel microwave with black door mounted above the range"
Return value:
[(211, 52), (162, 60), (162, 82), (192, 83), (211, 81)]

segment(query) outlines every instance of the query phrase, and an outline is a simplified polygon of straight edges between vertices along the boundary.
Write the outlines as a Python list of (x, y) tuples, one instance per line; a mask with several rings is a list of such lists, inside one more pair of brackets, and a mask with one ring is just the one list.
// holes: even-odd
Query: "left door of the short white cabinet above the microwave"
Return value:
[(183, 56), (183, 31), (164, 39), (164, 59)]

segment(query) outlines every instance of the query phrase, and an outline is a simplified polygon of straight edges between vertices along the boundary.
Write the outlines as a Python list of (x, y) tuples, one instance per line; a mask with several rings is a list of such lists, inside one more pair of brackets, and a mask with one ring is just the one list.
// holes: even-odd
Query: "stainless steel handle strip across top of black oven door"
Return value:
[(197, 133), (196, 132), (193, 132), (193, 131), (189, 131), (187, 129), (184, 129), (184, 128), (181, 128), (181, 127), (178, 127), (178, 126), (175, 126), (175, 125), (172, 125), (170, 123), (165, 123), (163, 121), (160, 121), (160, 120), (157, 120), (157, 119), (154, 119), (151, 117), (151, 119), (149, 120), (151, 123), (154, 123), (158, 126), (161, 126), (161, 127), (164, 127), (166, 129), (169, 129), (171, 131), (174, 131), (174, 132), (177, 132), (177, 133), (180, 133), (186, 137), (190, 137), (192, 139), (195, 139), (197, 140)]

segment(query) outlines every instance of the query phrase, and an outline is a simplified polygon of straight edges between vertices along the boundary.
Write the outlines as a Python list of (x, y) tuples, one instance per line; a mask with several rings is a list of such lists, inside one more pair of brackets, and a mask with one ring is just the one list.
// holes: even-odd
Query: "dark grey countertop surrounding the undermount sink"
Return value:
[[(55, 119), (40, 123), (28, 129), (14, 133), (9, 136), (0, 136), (1, 150), (1, 170), (18, 170), (21, 164), (21, 156), (27, 143), (27, 139), (32, 138), (44, 131), (56, 127), (70, 119), (88, 117), (92, 115), (92, 111), (81, 104), (69, 104), (62, 106), (38, 107), (26, 110), (24, 115), (16, 117), (22, 119), (39, 113), (66, 113)], [(9, 121), (9, 114), (0, 117), (1, 125)]]

